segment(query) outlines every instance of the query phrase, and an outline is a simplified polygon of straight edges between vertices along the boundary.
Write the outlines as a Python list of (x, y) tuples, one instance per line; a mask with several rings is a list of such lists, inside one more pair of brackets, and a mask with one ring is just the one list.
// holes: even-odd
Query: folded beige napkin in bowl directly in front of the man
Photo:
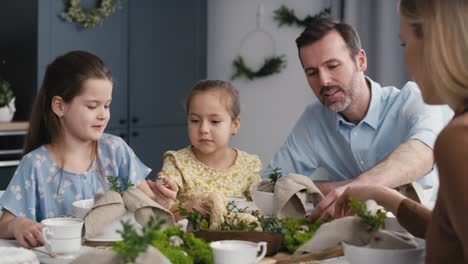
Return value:
[(280, 178), (274, 186), (273, 197), (276, 200), (278, 218), (302, 218), (306, 215), (307, 196), (314, 201), (321, 201), (323, 194), (307, 176), (290, 173)]

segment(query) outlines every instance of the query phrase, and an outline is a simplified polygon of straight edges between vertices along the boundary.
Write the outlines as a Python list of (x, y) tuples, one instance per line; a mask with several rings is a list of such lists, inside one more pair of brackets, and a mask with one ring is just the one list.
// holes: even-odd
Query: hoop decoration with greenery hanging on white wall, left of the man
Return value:
[[(261, 26), (261, 18), (263, 16), (263, 6), (262, 4), (258, 5), (257, 8), (257, 27), (254, 31), (249, 32), (241, 41), (241, 48), (244, 45), (244, 43), (252, 37), (255, 34), (261, 34), (264, 36), (267, 36), (269, 41), (273, 44), (273, 52), (276, 53), (276, 45), (273, 37), (271, 34), (265, 30), (262, 29)], [(239, 49), (239, 53), (240, 53)], [(246, 63), (244, 58), (241, 55), (238, 55), (236, 59), (233, 61), (233, 66), (234, 66), (234, 73), (231, 76), (231, 80), (245, 77), (248, 80), (254, 80), (257, 78), (262, 78), (266, 76), (273, 75), (275, 73), (281, 72), (281, 70), (286, 67), (286, 60), (284, 55), (272, 55), (268, 56), (265, 58), (263, 65), (258, 69), (254, 70), (251, 67), (249, 67)]]

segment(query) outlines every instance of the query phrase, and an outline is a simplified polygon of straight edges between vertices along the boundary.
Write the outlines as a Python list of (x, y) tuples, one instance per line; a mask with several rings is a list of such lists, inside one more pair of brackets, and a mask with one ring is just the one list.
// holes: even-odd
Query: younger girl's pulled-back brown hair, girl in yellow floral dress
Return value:
[(189, 95), (187, 96), (187, 100), (185, 102), (186, 111), (190, 109), (190, 102), (192, 98), (200, 93), (211, 91), (211, 90), (219, 90), (227, 95), (225, 104), (226, 108), (232, 118), (232, 120), (236, 119), (240, 114), (240, 99), (239, 99), (239, 92), (236, 88), (230, 83), (222, 80), (202, 80), (199, 81), (190, 91)]

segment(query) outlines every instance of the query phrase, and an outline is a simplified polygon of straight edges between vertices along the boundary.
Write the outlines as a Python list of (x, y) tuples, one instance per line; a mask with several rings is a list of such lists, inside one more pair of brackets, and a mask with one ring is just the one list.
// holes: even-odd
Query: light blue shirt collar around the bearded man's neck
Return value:
[[(369, 104), (369, 109), (367, 110), (367, 114), (360, 123), (365, 122), (373, 129), (377, 129), (379, 125), (380, 108), (382, 105), (382, 100), (381, 100), (382, 87), (380, 86), (380, 84), (374, 82), (367, 76), (366, 76), (366, 81), (371, 86), (371, 101)], [(348, 121), (344, 119), (344, 117), (341, 114), (334, 113), (332, 111), (329, 111), (329, 112), (333, 113), (335, 116), (335, 125), (336, 125), (337, 130), (339, 128), (340, 123), (350, 124)]]

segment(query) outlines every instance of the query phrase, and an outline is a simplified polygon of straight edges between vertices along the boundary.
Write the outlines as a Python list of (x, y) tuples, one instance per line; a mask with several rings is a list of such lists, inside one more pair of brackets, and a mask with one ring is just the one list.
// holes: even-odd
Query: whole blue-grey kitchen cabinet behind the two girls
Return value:
[(39, 1), (38, 82), (46, 65), (70, 50), (100, 56), (116, 81), (106, 132), (159, 171), (164, 151), (189, 144), (184, 102), (206, 78), (206, 0), (120, 2), (101, 26), (82, 29), (59, 17), (63, 1)]

